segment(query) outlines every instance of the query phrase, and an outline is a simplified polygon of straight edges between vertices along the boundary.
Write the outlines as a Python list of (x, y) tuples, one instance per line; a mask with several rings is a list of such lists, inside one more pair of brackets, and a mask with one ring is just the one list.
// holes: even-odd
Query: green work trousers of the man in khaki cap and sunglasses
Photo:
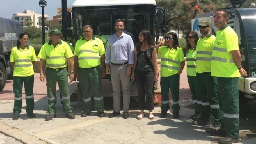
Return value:
[(220, 126), (222, 112), (218, 102), (217, 78), (212, 77), (210, 72), (197, 73), (199, 83), (199, 96), (202, 100), (201, 118), (209, 120), (212, 115), (214, 126)]

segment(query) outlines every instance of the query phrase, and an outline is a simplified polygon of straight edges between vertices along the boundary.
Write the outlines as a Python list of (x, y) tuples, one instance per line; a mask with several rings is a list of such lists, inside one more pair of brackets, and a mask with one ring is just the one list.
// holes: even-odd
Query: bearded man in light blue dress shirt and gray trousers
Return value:
[(134, 62), (134, 44), (130, 35), (123, 32), (125, 23), (122, 19), (115, 21), (116, 33), (111, 35), (106, 49), (106, 72), (111, 71), (114, 109), (109, 118), (120, 115), (121, 85), (123, 90), (123, 118), (129, 118), (130, 74)]

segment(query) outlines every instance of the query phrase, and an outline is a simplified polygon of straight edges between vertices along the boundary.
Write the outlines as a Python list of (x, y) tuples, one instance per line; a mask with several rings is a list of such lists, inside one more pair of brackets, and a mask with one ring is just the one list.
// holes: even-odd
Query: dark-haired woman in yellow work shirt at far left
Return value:
[(14, 108), (13, 120), (19, 119), (22, 107), (22, 85), (25, 87), (26, 112), (29, 118), (35, 118), (34, 109), (34, 70), (33, 65), (37, 60), (35, 50), (28, 45), (28, 35), (22, 33), (19, 35), (17, 46), (13, 47), (10, 56), (10, 64), (13, 70), (13, 92)]

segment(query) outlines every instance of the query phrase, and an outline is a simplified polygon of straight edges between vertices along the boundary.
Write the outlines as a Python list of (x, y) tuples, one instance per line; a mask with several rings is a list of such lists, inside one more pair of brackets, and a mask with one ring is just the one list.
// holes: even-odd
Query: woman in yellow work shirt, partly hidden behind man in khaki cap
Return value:
[(194, 31), (188, 32), (186, 35), (187, 41), (187, 76), (190, 92), (195, 105), (195, 114), (191, 119), (196, 120), (200, 115), (200, 105), (197, 104), (198, 96), (198, 77), (196, 77), (196, 44), (198, 41), (198, 34)]

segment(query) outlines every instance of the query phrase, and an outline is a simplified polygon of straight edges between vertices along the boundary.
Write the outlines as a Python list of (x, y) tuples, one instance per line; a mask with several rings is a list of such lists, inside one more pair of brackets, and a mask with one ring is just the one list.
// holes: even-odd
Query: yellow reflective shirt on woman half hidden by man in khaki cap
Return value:
[(196, 76), (196, 50), (188, 50), (187, 53), (187, 75)]

